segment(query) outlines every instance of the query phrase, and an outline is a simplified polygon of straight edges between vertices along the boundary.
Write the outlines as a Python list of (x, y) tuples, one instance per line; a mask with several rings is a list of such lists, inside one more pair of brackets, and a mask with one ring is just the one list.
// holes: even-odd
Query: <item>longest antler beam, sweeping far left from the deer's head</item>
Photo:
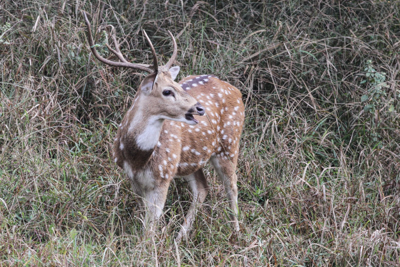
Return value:
[[(105, 64), (108, 64), (108, 65), (111, 65), (111, 66), (135, 68), (135, 69), (146, 71), (148, 73), (151, 73), (151, 72), (154, 72), (157, 70), (157, 69), (153, 69), (150, 65), (147, 65), (147, 64), (130, 63), (130, 62), (127, 62), (125, 59), (124, 59), (124, 61), (121, 60), (122, 62), (118, 62), (118, 61), (106, 59), (106, 58), (102, 57), (101, 55), (99, 55), (94, 46), (93, 37), (91, 35), (90, 22), (87, 19), (86, 12), (82, 10), (82, 13), (83, 13), (84, 21), (85, 21), (86, 27), (87, 27), (87, 39), (89, 41), (90, 50), (99, 61), (101, 61)], [(108, 47), (108, 48), (110, 48), (110, 47)], [(115, 48), (118, 50), (111, 49), (111, 52), (113, 52), (120, 59), (120, 57), (118, 55), (119, 48), (117, 48), (117, 46)], [(120, 51), (119, 51), (119, 54), (122, 55), (120, 53)]]

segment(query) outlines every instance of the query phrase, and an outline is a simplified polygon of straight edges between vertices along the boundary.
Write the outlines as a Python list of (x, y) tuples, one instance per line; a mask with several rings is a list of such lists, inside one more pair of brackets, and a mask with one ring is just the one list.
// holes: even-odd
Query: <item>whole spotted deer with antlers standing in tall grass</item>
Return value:
[(133, 193), (145, 210), (145, 231), (152, 230), (162, 215), (170, 182), (181, 177), (187, 182), (193, 198), (175, 240), (187, 237), (197, 206), (203, 203), (208, 192), (202, 169), (209, 161), (223, 184), (230, 219), (238, 233), (236, 165), (244, 123), (239, 89), (208, 74), (189, 75), (176, 82), (180, 67), (172, 66), (177, 45), (169, 30), (173, 52), (165, 65), (158, 64), (155, 49), (144, 30), (152, 53), (152, 65), (127, 61), (112, 25), (108, 26), (113, 29), (114, 49), (106, 46), (119, 60), (104, 58), (96, 51), (90, 22), (86, 13), (82, 13), (94, 57), (110, 66), (148, 73), (117, 128), (112, 149), (113, 161), (126, 173)]

